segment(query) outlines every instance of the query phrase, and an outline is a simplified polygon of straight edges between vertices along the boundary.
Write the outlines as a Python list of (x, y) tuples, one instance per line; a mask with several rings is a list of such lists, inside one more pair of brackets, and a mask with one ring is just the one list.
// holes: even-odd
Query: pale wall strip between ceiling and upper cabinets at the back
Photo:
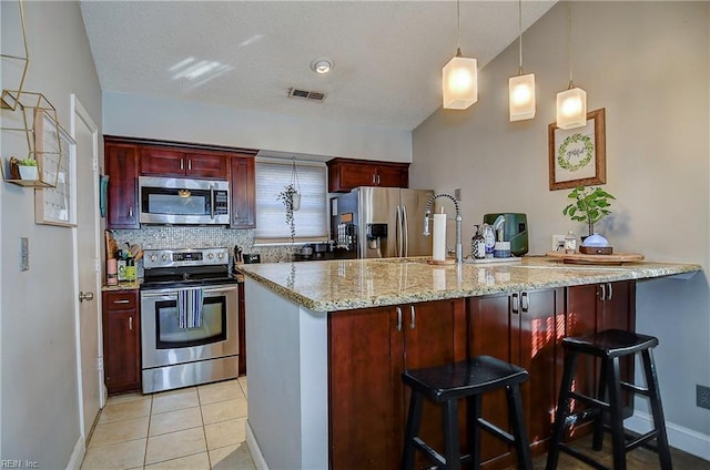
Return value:
[(412, 161), (412, 133), (408, 131), (244, 112), (109, 91), (103, 93), (103, 109), (106, 135), (206, 143), (287, 154)]

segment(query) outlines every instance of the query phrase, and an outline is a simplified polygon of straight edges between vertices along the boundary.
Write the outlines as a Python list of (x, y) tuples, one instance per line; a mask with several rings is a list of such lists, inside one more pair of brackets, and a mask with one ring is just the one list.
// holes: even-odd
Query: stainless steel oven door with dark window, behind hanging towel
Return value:
[(143, 369), (239, 354), (236, 285), (203, 289), (202, 323), (182, 328), (174, 288), (141, 292)]

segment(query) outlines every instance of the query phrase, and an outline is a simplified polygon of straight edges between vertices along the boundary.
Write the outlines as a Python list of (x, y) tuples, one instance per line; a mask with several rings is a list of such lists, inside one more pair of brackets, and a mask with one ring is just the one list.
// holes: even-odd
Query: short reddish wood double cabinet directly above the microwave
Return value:
[(221, 152), (186, 152), (163, 146), (141, 149), (142, 175), (226, 180), (227, 173), (226, 155)]

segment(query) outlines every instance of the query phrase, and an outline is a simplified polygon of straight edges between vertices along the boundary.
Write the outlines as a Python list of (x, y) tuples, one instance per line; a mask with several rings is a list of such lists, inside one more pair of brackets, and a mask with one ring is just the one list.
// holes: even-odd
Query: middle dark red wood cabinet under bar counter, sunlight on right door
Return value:
[[(564, 289), (520, 292), (471, 297), (469, 356), (488, 355), (516, 364), (529, 372), (521, 386), (528, 437), (535, 450), (550, 435), (556, 401), (555, 348), (558, 321), (564, 319)], [(509, 429), (505, 392), (484, 396), (484, 418)], [(488, 433), (481, 435), (484, 468), (515, 464), (513, 449)]]

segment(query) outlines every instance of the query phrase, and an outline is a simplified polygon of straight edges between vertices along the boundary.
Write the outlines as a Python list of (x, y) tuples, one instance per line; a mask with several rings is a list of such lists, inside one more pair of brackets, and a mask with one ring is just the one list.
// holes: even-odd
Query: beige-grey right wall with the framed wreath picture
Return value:
[[(589, 111), (606, 109), (604, 187), (617, 197), (596, 228), (619, 252), (704, 269), (691, 280), (639, 283), (637, 327), (659, 337), (666, 418), (682, 428), (676, 443), (701, 433), (710, 459), (710, 410), (696, 407), (696, 384), (710, 386), (710, 3), (572, 2), (571, 12), (575, 84)], [(530, 253), (549, 251), (551, 234), (586, 234), (561, 214), (569, 191), (548, 185), (548, 124), (569, 76), (567, 18), (559, 3), (524, 34), (534, 120), (508, 122), (516, 41), (479, 71), (478, 103), (439, 110), (413, 133), (410, 182), (463, 190), (464, 239), (489, 212), (527, 213)]]

